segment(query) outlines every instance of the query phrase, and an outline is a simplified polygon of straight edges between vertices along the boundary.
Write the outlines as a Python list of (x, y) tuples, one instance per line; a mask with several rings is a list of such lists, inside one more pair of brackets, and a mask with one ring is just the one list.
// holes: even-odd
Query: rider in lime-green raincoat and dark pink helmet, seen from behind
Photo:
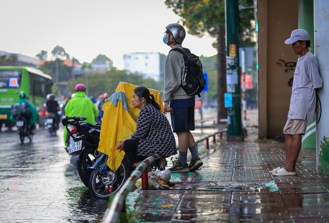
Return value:
[[(83, 116), (87, 119), (85, 123), (90, 123), (96, 125), (95, 117), (98, 114), (98, 111), (95, 107), (95, 104), (90, 100), (89, 97), (86, 97), (86, 86), (84, 84), (77, 84), (74, 88), (75, 96), (68, 100), (65, 106), (65, 115), (68, 117), (72, 116)], [(66, 128), (64, 128), (64, 142), (66, 145)]]

